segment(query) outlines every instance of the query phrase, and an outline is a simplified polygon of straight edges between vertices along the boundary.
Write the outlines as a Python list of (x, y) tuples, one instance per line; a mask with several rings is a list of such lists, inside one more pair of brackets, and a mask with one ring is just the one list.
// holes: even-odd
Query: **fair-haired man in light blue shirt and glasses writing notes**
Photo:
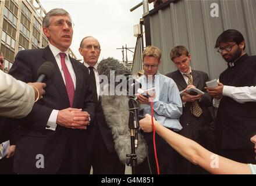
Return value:
[[(179, 123), (179, 117), (182, 115), (182, 101), (179, 90), (172, 78), (163, 76), (159, 73), (158, 67), (161, 65), (161, 51), (154, 46), (149, 46), (143, 51), (144, 75), (137, 80), (142, 84), (144, 90), (155, 88), (155, 97), (152, 99), (154, 117), (169, 128), (169, 130), (180, 131), (182, 126)], [(148, 92), (152, 94), (152, 92)], [(143, 95), (137, 96), (140, 102), (141, 112), (150, 113), (150, 99)], [(148, 153), (153, 174), (157, 173), (157, 167), (154, 157), (154, 146), (152, 134), (144, 134), (145, 141), (148, 144)], [(176, 152), (166, 142), (156, 134), (155, 143), (157, 146), (157, 155), (159, 169), (161, 174), (176, 173)], [(145, 161), (146, 162), (146, 161)], [(140, 174), (150, 173), (147, 163), (138, 166)]]

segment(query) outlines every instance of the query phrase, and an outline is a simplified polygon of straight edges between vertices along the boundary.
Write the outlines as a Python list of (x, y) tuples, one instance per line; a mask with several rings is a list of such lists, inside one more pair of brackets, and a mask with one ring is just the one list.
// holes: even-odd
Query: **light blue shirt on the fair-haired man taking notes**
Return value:
[[(180, 131), (182, 126), (179, 117), (182, 115), (182, 100), (179, 90), (172, 78), (163, 76), (157, 72), (153, 78), (147, 78), (143, 75), (137, 79), (146, 90), (155, 87), (155, 98), (153, 100), (153, 109), (155, 119), (163, 126)], [(141, 104), (140, 110), (144, 109), (144, 114), (151, 115), (150, 105)]]

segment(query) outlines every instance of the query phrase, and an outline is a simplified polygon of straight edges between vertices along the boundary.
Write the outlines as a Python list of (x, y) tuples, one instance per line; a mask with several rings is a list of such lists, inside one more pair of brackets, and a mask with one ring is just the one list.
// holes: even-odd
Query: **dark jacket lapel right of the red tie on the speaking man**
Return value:
[(78, 63), (76, 60), (71, 58), (69, 56), (70, 62), (73, 66), (74, 69), (74, 74), (76, 74), (76, 90), (74, 91), (74, 101), (73, 101), (73, 108), (76, 108), (77, 101), (79, 101), (79, 95), (81, 91), (81, 87), (83, 87), (83, 71), (81, 68), (78, 66)]

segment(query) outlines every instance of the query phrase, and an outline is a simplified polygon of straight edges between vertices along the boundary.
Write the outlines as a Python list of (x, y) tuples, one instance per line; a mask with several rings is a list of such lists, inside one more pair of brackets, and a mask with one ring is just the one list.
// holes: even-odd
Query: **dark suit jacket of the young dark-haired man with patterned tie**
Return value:
[[(175, 81), (179, 91), (182, 91), (187, 87), (187, 83), (179, 70), (166, 74), (166, 76), (172, 78)], [(192, 77), (193, 85), (199, 90), (205, 92), (205, 82), (209, 81), (208, 75), (203, 71), (192, 70)], [(180, 134), (200, 142), (200, 131), (204, 128), (204, 126), (207, 126), (212, 121), (212, 116), (208, 109), (209, 106), (212, 106), (212, 98), (207, 92), (205, 92), (201, 98), (201, 101), (198, 103), (202, 108), (202, 115), (200, 117), (195, 117), (191, 114), (191, 102), (187, 102), (186, 105), (183, 106), (183, 113), (180, 117), (180, 124), (182, 124), (183, 129), (180, 131)]]

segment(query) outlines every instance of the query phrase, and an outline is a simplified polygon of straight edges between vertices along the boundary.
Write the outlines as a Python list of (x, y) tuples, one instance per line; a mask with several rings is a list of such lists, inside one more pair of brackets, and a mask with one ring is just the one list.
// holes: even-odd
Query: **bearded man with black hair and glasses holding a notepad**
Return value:
[(256, 163), (250, 137), (256, 131), (256, 56), (244, 52), (246, 42), (237, 30), (226, 30), (215, 48), (227, 62), (218, 87), (206, 88), (218, 108), (215, 141), (219, 155), (241, 163)]

